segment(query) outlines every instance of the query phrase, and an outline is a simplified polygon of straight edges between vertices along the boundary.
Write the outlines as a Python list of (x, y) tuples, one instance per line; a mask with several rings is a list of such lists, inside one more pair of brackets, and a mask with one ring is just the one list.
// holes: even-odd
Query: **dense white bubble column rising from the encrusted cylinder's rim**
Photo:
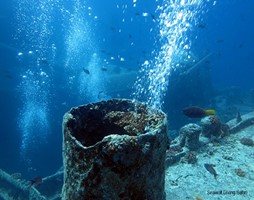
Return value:
[(172, 70), (179, 68), (179, 57), (190, 56), (189, 32), (197, 23), (202, 0), (164, 0), (157, 8), (159, 16), (159, 52), (143, 63), (135, 83), (135, 99), (161, 109)]

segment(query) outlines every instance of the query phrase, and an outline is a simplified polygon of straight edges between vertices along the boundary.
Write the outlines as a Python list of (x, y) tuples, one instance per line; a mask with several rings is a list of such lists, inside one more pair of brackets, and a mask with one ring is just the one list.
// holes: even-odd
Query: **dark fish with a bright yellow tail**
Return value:
[(184, 108), (183, 114), (190, 118), (202, 118), (208, 115), (215, 115), (215, 110), (205, 110), (197, 106), (191, 106)]

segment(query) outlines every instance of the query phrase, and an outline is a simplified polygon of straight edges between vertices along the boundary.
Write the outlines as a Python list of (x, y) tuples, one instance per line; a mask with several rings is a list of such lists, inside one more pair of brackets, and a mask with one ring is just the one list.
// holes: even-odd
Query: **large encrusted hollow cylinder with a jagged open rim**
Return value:
[(126, 99), (72, 108), (63, 121), (62, 199), (164, 200), (167, 119)]

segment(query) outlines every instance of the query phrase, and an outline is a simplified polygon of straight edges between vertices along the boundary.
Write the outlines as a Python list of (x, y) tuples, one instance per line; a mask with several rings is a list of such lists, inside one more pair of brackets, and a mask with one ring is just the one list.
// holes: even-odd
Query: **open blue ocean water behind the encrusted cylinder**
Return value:
[[(162, 58), (150, 62), (166, 42), (160, 38), (160, 14), (172, 2), (2, 0), (0, 168), (27, 179), (52, 174), (62, 165), (65, 112), (89, 102), (134, 98), (144, 63), (153, 69)], [(218, 90), (254, 89), (253, 8), (250, 0), (210, 0), (188, 10), (189, 30), (179, 34), (188, 44), (186, 58), (179, 56), (174, 69), (165, 66), (170, 76), (160, 91), (170, 129), (189, 122), (183, 107), (215, 106)], [(141, 87), (149, 91), (146, 81)], [(144, 94), (140, 100), (147, 101)]]

